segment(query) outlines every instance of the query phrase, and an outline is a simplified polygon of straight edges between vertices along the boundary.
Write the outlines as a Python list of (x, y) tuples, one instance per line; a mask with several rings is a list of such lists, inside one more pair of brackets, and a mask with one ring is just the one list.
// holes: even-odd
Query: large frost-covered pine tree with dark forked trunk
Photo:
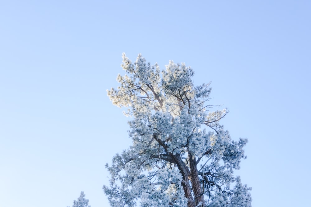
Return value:
[(126, 74), (107, 93), (128, 108), (133, 143), (106, 164), (110, 205), (251, 206), (251, 189), (233, 175), (247, 139), (233, 141), (219, 124), (227, 109), (209, 111), (210, 84), (194, 86), (184, 63), (170, 61), (160, 72), (141, 54), (134, 64), (122, 57)]

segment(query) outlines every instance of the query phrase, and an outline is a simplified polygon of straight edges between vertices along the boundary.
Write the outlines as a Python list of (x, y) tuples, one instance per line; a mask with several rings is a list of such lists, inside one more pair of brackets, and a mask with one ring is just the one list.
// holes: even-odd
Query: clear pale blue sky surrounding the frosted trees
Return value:
[(127, 149), (106, 89), (121, 54), (185, 62), (247, 137), (253, 207), (310, 205), (310, 1), (1, 1), (1, 206), (108, 206), (105, 163)]

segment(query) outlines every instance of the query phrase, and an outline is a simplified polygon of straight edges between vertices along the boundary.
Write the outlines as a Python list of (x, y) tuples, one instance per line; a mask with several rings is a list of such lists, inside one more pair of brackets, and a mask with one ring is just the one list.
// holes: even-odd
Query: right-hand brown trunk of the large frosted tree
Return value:
[(192, 184), (192, 190), (194, 194), (194, 203), (195, 205), (198, 205), (198, 203), (202, 201), (203, 203), (202, 207), (205, 207), (205, 200), (202, 194), (202, 188), (200, 184), (199, 175), (197, 172), (197, 164), (196, 164), (194, 155), (189, 154), (189, 162), (190, 162), (191, 184)]

